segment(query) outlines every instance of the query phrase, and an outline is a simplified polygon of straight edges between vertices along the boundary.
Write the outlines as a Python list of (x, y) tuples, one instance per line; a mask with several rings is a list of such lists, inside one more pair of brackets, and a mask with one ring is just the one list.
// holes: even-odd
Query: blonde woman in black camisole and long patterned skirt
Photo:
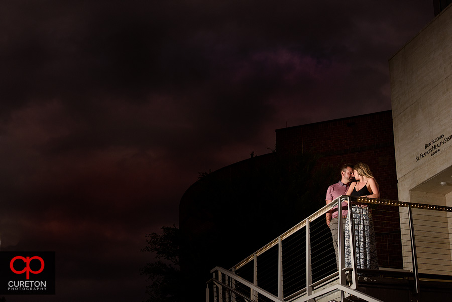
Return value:
[[(352, 182), (347, 195), (365, 198), (380, 198), (378, 183), (372, 176), (369, 166), (365, 163), (357, 163), (353, 166), (353, 176), (356, 182)], [(353, 226), (355, 228), (355, 257), (356, 267), (366, 269), (378, 269), (377, 248), (375, 245), (374, 223), (372, 214), (366, 204), (352, 206)], [(350, 260), (350, 215), (346, 219), (345, 227), (345, 258), (346, 267), (351, 267)]]

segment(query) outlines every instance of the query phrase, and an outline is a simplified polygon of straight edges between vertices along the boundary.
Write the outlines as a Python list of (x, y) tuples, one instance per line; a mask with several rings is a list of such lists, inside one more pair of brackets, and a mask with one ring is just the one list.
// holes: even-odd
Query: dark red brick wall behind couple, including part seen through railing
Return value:
[[(344, 163), (364, 162), (379, 184), (381, 198), (398, 199), (391, 111), (277, 129), (276, 151), (320, 154), (317, 165), (337, 169)], [(398, 211), (373, 208), (378, 263), (403, 268)]]

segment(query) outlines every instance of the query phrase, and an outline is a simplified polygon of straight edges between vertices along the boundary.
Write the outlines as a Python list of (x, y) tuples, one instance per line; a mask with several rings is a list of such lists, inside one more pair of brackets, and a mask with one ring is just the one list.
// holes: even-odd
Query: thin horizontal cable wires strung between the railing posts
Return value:
[[(402, 271), (413, 270), (412, 238), (410, 235), (412, 231), (410, 219), (412, 219), (418, 271), (429, 274), (452, 274), (452, 237), (450, 237), (452, 228), (449, 227), (450, 221), (452, 221), (452, 217), (450, 217), (451, 208), (371, 198), (358, 198), (357, 201), (361, 204), (368, 204), (369, 212), (372, 214), (380, 268), (400, 269)], [(337, 205), (337, 202), (338, 200), (335, 200), (328, 207), (323, 207), (311, 215), (308, 218), (309, 223), (299, 223), (258, 250), (254, 254), (255, 256), (249, 256), (239, 262), (232, 271), (250, 284), (257, 283), (259, 288), (266, 290), (273, 296), (278, 296), (279, 290), (282, 291), (283, 297), (302, 292), (306, 289), (307, 283), (306, 244), (308, 242), (306, 241), (306, 227), (309, 226), (310, 275), (312, 278), (309, 280), (309, 284), (326, 277), (331, 278), (331, 274), (337, 273), (337, 266), (334, 249), (332, 248), (331, 232), (326, 225), (324, 214), (334, 205)], [(412, 207), (411, 218), (407, 207)], [(448, 211), (448, 213), (440, 211)], [(356, 242), (360, 244), (362, 239), (357, 237)], [(254, 263), (255, 261), (256, 263)], [(331, 265), (325, 264), (328, 262)], [(282, 270), (279, 271), (279, 269)], [(254, 278), (255, 274), (256, 279)], [(278, 278), (279, 274), (281, 274), (281, 279)], [(221, 279), (221, 282), (230, 282), (231, 288), (243, 295), (243, 297), (236, 296), (236, 302), (241, 299), (246, 300), (246, 298), (264, 302), (272, 300), (272, 298), (252, 290), (251, 285)], [(278, 285), (280, 280), (282, 284)], [(231, 300), (233, 293), (232, 291), (226, 291), (226, 293), (223, 291), (222, 295), (224, 299)], [(348, 298), (345, 300), (348, 300)]]

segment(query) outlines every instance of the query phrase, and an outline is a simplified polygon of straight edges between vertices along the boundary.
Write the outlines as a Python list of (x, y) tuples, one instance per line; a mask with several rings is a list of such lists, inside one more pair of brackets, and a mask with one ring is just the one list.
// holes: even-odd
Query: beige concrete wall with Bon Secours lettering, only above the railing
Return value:
[(451, 7), (389, 66), (399, 200), (410, 200), (412, 188), (452, 166)]

